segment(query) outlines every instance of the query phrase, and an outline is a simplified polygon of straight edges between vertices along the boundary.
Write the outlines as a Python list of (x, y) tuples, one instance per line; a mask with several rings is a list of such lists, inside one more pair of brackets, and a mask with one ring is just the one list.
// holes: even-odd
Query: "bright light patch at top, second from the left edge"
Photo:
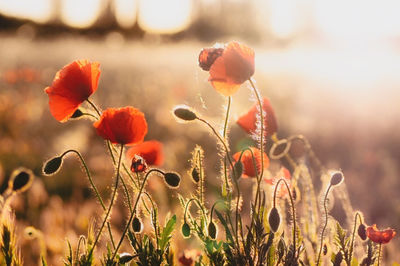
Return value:
[(61, 20), (71, 27), (87, 28), (96, 22), (103, 8), (102, 0), (62, 0)]

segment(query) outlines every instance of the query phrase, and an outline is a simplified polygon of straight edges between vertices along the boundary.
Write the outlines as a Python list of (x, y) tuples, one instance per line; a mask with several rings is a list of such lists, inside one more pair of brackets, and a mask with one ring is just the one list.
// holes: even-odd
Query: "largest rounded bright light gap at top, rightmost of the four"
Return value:
[(139, 0), (138, 23), (150, 33), (176, 33), (190, 23), (191, 0)]

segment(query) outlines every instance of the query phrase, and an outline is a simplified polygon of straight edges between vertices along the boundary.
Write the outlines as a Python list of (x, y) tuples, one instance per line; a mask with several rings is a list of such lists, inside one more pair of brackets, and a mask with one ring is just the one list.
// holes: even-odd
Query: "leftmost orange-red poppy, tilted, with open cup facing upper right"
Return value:
[(77, 60), (57, 72), (44, 91), (49, 95), (50, 112), (60, 122), (67, 121), (78, 107), (97, 90), (100, 64)]

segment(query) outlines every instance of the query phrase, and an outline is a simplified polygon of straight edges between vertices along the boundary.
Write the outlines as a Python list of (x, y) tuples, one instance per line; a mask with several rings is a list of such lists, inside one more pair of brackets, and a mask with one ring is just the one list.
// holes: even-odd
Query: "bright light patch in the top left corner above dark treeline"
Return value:
[(45, 23), (53, 16), (52, 0), (1, 0), (0, 12), (7, 16)]

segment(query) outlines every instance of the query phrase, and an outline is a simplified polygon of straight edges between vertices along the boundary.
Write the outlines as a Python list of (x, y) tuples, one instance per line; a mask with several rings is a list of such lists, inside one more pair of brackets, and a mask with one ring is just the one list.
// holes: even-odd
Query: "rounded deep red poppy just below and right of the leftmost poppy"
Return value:
[(138, 144), (147, 134), (144, 114), (131, 106), (105, 110), (93, 126), (99, 136), (114, 144)]

